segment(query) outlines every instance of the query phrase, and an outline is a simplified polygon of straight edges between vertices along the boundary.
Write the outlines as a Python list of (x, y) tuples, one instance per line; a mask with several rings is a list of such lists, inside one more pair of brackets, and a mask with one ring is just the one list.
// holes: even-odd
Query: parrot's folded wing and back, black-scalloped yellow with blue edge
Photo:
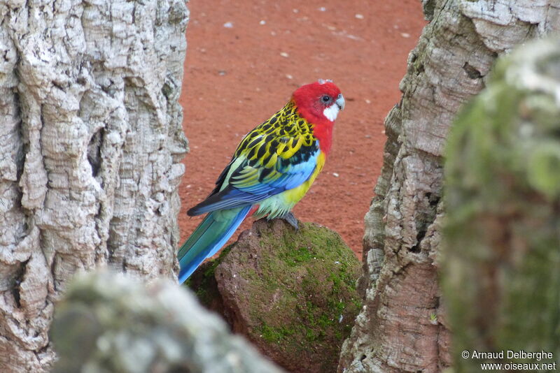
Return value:
[(188, 214), (257, 203), (292, 189), (314, 172), (319, 152), (312, 124), (290, 101), (247, 133), (214, 191)]

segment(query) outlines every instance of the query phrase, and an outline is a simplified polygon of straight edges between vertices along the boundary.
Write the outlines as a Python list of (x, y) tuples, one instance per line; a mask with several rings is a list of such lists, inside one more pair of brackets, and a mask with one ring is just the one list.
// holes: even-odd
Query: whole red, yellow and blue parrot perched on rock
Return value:
[(304, 85), (279, 112), (246, 134), (216, 188), (188, 210), (190, 217), (207, 214), (183, 244), (177, 258), (179, 284), (233, 235), (241, 221), (255, 217), (286, 219), (325, 164), (332, 126), (344, 96), (330, 80)]

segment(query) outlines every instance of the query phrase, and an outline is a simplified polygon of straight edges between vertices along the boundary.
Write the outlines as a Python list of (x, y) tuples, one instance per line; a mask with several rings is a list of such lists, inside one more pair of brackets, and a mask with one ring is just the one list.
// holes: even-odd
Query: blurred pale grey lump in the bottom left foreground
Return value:
[(73, 281), (57, 305), (53, 373), (281, 373), (171, 281), (109, 272)]

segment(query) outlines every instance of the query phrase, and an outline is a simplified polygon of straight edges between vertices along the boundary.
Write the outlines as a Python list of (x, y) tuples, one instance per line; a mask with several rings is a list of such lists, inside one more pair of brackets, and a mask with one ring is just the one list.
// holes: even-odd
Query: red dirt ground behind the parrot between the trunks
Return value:
[(180, 102), (190, 153), (179, 186), (181, 240), (202, 219), (186, 210), (214, 188), (241, 138), (297, 87), (323, 78), (342, 90), (346, 109), (323, 173), (294, 214), (337, 231), (361, 257), (384, 117), (400, 99), (407, 55), (426, 24), (421, 2), (191, 0), (188, 7)]

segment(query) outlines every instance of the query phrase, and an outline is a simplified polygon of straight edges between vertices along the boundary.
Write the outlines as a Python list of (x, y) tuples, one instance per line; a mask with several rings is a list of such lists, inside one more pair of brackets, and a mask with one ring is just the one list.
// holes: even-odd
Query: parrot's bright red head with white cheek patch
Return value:
[(345, 104), (340, 89), (332, 81), (320, 79), (296, 89), (293, 101), (297, 112), (313, 124), (313, 132), (319, 140), (321, 150), (328, 154), (332, 141), (332, 125)]

